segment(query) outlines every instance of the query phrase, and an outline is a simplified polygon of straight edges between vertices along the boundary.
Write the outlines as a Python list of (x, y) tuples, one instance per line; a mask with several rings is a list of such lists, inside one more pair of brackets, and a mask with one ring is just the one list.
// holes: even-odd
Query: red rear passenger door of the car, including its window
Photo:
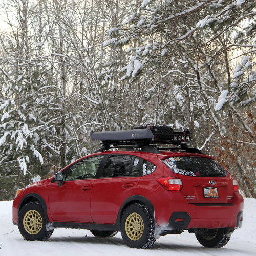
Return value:
[(132, 195), (141, 174), (141, 160), (130, 155), (109, 155), (94, 181), (91, 216), (94, 223), (114, 224), (122, 203)]

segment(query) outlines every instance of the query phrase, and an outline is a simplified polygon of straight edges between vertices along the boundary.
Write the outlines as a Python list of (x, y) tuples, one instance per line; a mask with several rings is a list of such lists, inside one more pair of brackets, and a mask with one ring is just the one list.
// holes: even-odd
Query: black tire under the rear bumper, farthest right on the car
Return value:
[(204, 247), (208, 248), (220, 248), (226, 245), (231, 237), (231, 234), (227, 234), (225, 228), (217, 228), (209, 231), (210, 233), (201, 235), (196, 234), (198, 242)]

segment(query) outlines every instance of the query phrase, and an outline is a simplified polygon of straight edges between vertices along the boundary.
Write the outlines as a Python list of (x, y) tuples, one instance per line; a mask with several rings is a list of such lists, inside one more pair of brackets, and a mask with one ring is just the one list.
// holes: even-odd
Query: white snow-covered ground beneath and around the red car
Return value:
[(256, 255), (256, 199), (245, 199), (242, 228), (219, 249), (201, 246), (194, 234), (184, 232), (159, 238), (150, 250), (127, 247), (118, 233), (113, 238), (95, 238), (88, 230), (55, 229), (50, 240), (26, 241), (12, 224), (12, 201), (0, 202), (0, 256), (40, 255)]

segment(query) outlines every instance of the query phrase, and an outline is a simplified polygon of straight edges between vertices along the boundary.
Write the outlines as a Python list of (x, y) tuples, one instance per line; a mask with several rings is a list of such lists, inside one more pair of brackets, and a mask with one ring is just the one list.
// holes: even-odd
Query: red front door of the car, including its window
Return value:
[(49, 207), (54, 221), (92, 222), (91, 192), (104, 156), (83, 159), (63, 170), (64, 182), (50, 184)]

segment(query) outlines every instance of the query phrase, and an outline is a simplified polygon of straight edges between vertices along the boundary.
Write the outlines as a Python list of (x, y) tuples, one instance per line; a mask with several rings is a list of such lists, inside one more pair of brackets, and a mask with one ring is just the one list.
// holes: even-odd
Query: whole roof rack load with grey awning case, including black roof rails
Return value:
[[(186, 151), (203, 154), (198, 148), (191, 148), (187, 142), (191, 140), (190, 132), (174, 132), (167, 126), (142, 126), (131, 130), (91, 132), (92, 140), (102, 141), (99, 150), (125, 148), (126, 150), (140, 150), (144, 152), (160, 153), (159, 150)], [(158, 148), (157, 144), (173, 144), (177, 147)], [(178, 147), (180, 145), (180, 147)]]

